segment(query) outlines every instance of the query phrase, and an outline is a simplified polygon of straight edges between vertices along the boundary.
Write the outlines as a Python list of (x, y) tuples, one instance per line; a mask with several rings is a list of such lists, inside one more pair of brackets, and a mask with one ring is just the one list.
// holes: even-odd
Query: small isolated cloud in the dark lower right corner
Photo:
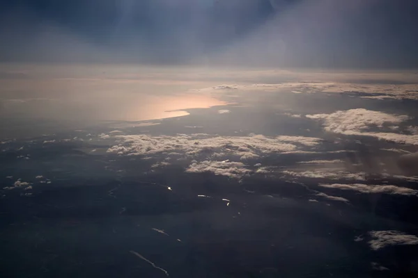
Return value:
[(392, 245), (418, 245), (417, 236), (403, 234), (400, 231), (371, 231), (369, 241), (372, 250), (380, 250)]

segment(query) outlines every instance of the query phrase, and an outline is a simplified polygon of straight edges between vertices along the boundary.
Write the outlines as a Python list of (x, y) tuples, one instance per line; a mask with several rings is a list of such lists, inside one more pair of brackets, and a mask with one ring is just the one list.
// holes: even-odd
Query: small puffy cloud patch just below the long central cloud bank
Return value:
[(249, 174), (251, 170), (245, 168), (240, 162), (222, 162), (222, 161), (194, 161), (187, 168), (188, 173), (212, 172), (216, 175), (226, 176), (230, 178), (241, 178)]

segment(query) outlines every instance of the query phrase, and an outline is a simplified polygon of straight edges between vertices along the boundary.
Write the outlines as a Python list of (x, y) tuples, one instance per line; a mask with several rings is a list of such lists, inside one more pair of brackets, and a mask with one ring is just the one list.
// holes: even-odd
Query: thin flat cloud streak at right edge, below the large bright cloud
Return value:
[(367, 185), (367, 184), (319, 184), (318, 186), (324, 188), (335, 188), (341, 190), (353, 190), (360, 193), (385, 193), (392, 195), (417, 195), (418, 191), (411, 188), (399, 187), (399, 186), (389, 186), (389, 185)]

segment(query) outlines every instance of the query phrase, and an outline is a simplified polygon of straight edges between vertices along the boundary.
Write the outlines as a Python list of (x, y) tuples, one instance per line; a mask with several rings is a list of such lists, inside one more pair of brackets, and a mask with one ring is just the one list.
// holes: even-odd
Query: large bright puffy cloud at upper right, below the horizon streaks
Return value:
[(381, 140), (418, 145), (418, 135), (376, 132), (372, 129), (391, 129), (409, 119), (406, 115), (391, 115), (363, 108), (348, 111), (336, 111), (331, 114), (306, 115), (314, 120), (323, 121), (325, 131), (352, 136), (372, 136)]

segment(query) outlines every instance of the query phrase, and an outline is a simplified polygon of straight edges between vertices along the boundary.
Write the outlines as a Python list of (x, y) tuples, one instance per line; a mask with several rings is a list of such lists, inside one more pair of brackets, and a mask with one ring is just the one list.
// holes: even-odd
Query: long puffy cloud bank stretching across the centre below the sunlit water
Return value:
[[(254, 136), (209, 136), (208, 134), (178, 134), (177, 136), (129, 135), (115, 136), (118, 145), (107, 152), (120, 155), (151, 155), (184, 153), (187, 156), (238, 156), (242, 160), (258, 158), (265, 154), (297, 150), (297, 146), (261, 135)], [(316, 139), (319, 140), (319, 139)], [(314, 138), (300, 138), (300, 145), (312, 145)]]

